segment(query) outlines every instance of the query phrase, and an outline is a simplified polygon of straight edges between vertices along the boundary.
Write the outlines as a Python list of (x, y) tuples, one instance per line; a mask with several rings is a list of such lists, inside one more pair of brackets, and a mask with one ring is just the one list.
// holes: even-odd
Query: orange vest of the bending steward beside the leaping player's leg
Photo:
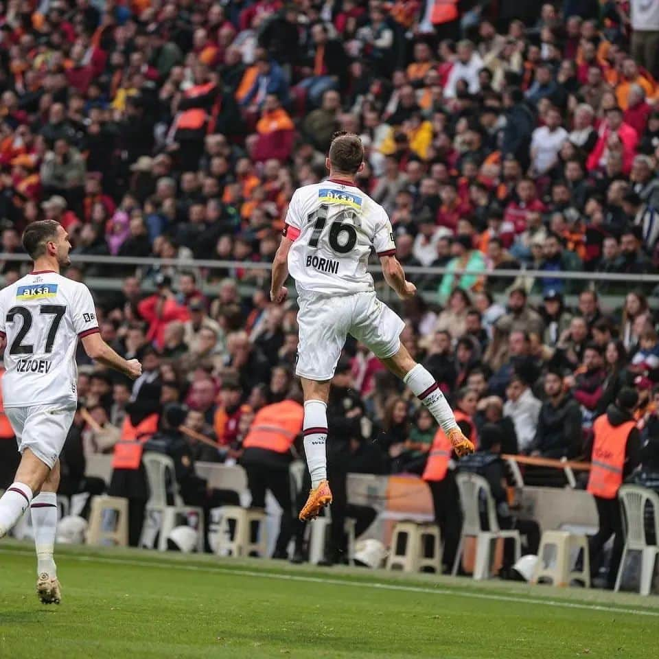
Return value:
[(265, 448), (286, 453), (302, 430), (304, 408), (294, 400), (266, 405), (252, 421), (243, 448)]

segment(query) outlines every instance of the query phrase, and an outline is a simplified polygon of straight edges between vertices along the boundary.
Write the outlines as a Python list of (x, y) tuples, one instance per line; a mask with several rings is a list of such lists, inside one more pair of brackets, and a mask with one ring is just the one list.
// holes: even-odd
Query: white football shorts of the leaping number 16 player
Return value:
[(385, 359), (400, 348), (405, 323), (375, 292), (335, 297), (298, 297), (299, 345), (295, 373), (308, 380), (331, 380), (348, 334)]

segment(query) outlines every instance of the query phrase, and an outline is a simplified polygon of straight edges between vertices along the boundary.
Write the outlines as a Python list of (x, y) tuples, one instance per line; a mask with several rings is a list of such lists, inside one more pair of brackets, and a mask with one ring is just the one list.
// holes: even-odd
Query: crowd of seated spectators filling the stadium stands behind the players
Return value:
[[(645, 442), (630, 461), (659, 485), (654, 284), (598, 277), (658, 272), (657, 78), (659, 10), (637, 0), (8, 0), (2, 251), (54, 218), (74, 259), (268, 264), (292, 192), (325, 176), (336, 130), (356, 132), (360, 186), (388, 211), (400, 262), (447, 268), (411, 277), (426, 295), (402, 305), (402, 340), (466, 434), (486, 450), (588, 459), (593, 420), (629, 385)], [(5, 260), (5, 281), (20, 268)], [(556, 276), (569, 271), (592, 279)], [(162, 432), (185, 422), (218, 443), (188, 439), (177, 454), (185, 498), (209, 507), (226, 493), (209, 494), (194, 461), (243, 460), (255, 413), (299, 397), (296, 310), (270, 304), (259, 268), (135, 272), (67, 273), (123, 278), (97, 292), (100, 330), (144, 372), (130, 386), (80, 355), (80, 400), (103, 430), (76, 417), (64, 487), (83, 487), (84, 454), (111, 452), (126, 418), (156, 414)], [(354, 343), (329, 429), (342, 473), (423, 474), (436, 432)], [(143, 507), (143, 488), (122, 483)]]

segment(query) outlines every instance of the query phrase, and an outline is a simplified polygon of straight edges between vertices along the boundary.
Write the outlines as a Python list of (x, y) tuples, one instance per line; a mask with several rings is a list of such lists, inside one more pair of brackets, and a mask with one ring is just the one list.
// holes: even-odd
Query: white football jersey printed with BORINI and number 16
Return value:
[(384, 208), (358, 187), (328, 179), (295, 191), (284, 226), (293, 240), (288, 271), (299, 293), (341, 295), (373, 290), (371, 248), (396, 253)]

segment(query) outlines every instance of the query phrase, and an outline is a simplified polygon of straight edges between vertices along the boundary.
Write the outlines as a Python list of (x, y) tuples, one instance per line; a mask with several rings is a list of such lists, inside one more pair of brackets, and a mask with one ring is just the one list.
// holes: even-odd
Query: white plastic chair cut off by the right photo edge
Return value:
[(656, 557), (659, 546), (647, 544), (645, 538), (645, 505), (649, 503), (654, 517), (654, 537), (659, 542), (659, 495), (647, 487), (638, 485), (623, 485), (618, 491), (618, 500), (623, 513), (623, 529), (625, 531), (625, 546), (618, 568), (616, 592), (620, 590), (625, 562), (630, 551), (640, 551), (640, 594), (649, 595), (654, 577)]

